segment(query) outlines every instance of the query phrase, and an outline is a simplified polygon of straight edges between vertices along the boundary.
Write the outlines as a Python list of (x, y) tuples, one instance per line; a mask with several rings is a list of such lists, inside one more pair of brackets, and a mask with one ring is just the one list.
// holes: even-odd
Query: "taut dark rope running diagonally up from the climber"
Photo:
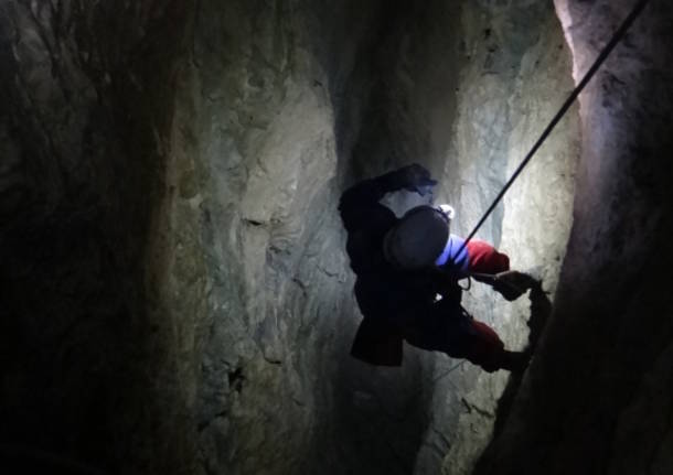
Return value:
[(612, 52), (612, 50), (615, 50), (615, 46), (617, 46), (617, 44), (623, 39), (623, 36), (626, 35), (627, 31), (629, 30), (629, 28), (631, 26), (631, 24), (635, 21), (635, 19), (638, 18), (638, 15), (640, 15), (640, 13), (643, 11), (643, 9), (645, 8), (645, 6), (648, 4), (649, 0), (640, 0), (638, 3), (635, 3), (635, 6), (633, 7), (633, 10), (631, 10), (631, 13), (629, 13), (629, 15), (626, 18), (626, 20), (623, 21), (623, 23), (621, 24), (621, 26), (615, 32), (615, 34), (612, 35), (612, 39), (608, 42), (608, 44), (602, 48), (602, 51), (600, 52), (600, 54), (598, 55), (598, 57), (596, 58), (596, 61), (594, 62), (594, 64), (591, 65), (591, 67), (589, 68), (589, 71), (587, 71), (587, 73), (585, 74), (585, 76), (581, 78), (581, 80), (579, 82), (579, 84), (575, 87), (575, 89), (573, 90), (573, 93), (570, 94), (570, 96), (568, 96), (568, 98), (566, 99), (566, 101), (564, 102), (564, 105), (560, 107), (560, 109), (558, 110), (558, 112), (556, 112), (556, 116), (554, 116), (554, 118), (552, 119), (552, 121), (549, 122), (549, 125), (546, 127), (546, 129), (542, 132), (542, 136), (540, 136), (540, 139), (537, 139), (537, 141), (535, 142), (535, 144), (533, 145), (533, 148), (531, 149), (531, 151), (525, 155), (525, 158), (523, 159), (523, 161), (521, 162), (521, 164), (516, 168), (516, 170), (514, 171), (514, 173), (512, 174), (512, 177), (510, 177), (510, 180), (508, 181), (508, 183), (502, 187), (502, 190), (500, 191), (500, 193), (498, 194), (498, 196), (495, 197), (495, 199), (493, 201), (493, 203), (491, 204), (491, 206), (489, 207), (489, 209), (487, 209), (487, 212), (484, 213), (484, 215), (481, 217), (481, 219), (479, 220), (479, 223), (477, 224), (477, 226), (474, 226), (474, 229), (472, 229), (472, 233), (470, 233), (467, 237), (467, 239), (464, 240), (464, 242), (462, 244), (462, 246), (460, 247), (460, 249), (458, 250), (458, 256), (460, 255), (460, 252), (463, 251), (463, 249), (467, 247), (468, 242), (470, 241), (470, 239), (472, 239), (474, 237), (474, 235), (477, 234), (477, 231), (479, 230), (479, 228), (481, 228), (481, 226), (483, 225), (483, 223), (487, 220), (487, 218), (489, 217), (489, 215), (491, 213), (493, 213), (493, 209), (495, 209), (495, 206), (498, 206), (498, 204), (500, 203), (500, 201), (502, 199), (502, 197), (504, 196), (504, 194), (508, 192), (508, 190), (510, 188), (510, 186), (512, 186), (512, 183), (514, 183), (514, 181), (519, 177), (519, 175), (521, 174), (521, 172), (523, 171), (523, 169), (528, 164), (528, 162), (531, 161), (531, 159), (533, 158), (533, 155), (535, 154), (535, 152), (537, 152), (537, 149), (540, 149), (540, 147), (544, 143), (544, 141), (547, 139), (547, 137), (549, 137), (549, 134), (552, 133), (552, 130), (554, 130), (554, 128), (556, 127), (556, 125), (560, 121), (560, 119), (563, 119), (563, 117), (565, 116), (565, 114), (568, 111), (568, 109), (570, 108), (570, 106), (573, 105), (573, 102), (575, 102), (575, 99), (577, 99), (577, 96), (579, 96), (579, 94), (584, 90), (585, 86), (589, 83), (589, 80), (591, 80), (591, 78), (594, 77), (594, 75), (596, 74), (596, 72), (598, 71), (598, 68), (602, 65), (602, 63), (607, 60), (607, 57), (610, 55), (610, 53)]

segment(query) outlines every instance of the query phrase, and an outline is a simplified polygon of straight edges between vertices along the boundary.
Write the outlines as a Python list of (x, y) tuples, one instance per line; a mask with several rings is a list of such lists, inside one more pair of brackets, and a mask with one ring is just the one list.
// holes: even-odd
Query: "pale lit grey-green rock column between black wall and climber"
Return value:
[[(316, 35), (330, 18), (351, 24), (356, 45), (367, 10), (212, 1), (196, 14), (193, 94), (180, 108), (194, 137), (189, 253), (205, 255), (207, 289), (200, 458), (207, 473), (298, 473), (316, 461), (339, 471), (353, 463), (348, 439), (342, 456), (325, 444), (353, 303), (332, 98), (356, 48), (340, 48), (340, 28)], [(332, 56), (320, 63), (320, 51)]]

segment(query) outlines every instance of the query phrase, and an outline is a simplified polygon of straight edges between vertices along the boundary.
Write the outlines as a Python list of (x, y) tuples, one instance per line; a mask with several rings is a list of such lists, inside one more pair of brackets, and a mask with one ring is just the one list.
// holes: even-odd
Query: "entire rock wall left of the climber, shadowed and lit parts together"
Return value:
[(420, 429), (364, 446), (380, 408), (348, 387), (407, 381), (343, 363), (335, 204), (380, 7), (3, 3), (6, 465), (412, 463)]

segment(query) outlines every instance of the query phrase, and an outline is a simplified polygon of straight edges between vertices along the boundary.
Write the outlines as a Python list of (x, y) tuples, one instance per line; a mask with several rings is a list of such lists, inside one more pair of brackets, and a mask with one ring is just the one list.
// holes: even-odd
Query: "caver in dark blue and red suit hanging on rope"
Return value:
[(462, 246), (449, 233), (450, 206), (417, 206), (397, 218), (380, 203), (386, 193), (400, 190), (424, 196), (436, 184), (425, 168), (412, 164), (361, 181), (341, 195), (339, 210), (363, 315), (351, 355), (373, 365), (399, 366), (406, 341), (468, 359), (489, 373), (521, 370), (530, 355), (504, 349), (491, 327), (464, 311), (458, 281), (473, 277), (509, 301), (538, 282), (510, 270), (509, 257), (484, 241)]

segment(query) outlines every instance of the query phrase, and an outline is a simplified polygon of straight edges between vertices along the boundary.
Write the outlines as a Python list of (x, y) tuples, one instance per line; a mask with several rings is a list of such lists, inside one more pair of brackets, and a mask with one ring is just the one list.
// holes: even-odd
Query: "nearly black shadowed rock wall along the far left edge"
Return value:
[(167, 358), (171, 325), (149, 310), (147, 247), (184, 7), (0, 6), (0, 443), (10, 471), (151, 473), (185, 458), (183, 385)]

